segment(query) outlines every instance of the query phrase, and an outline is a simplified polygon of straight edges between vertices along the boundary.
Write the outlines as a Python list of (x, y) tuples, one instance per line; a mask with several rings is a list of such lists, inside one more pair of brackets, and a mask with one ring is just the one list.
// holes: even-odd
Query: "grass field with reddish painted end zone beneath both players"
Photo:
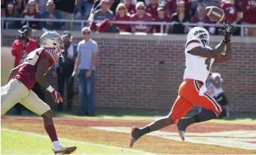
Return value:
[[(59, 135), (59, 141), (62, 142), (63, 145), (76, 145), (78, 150), (75, 151), (75, 154), (256, 154), (256, 149), (250, 151), (236, 147), (218, 147), (214, 144), (204, 145), (204, 143), (209, 142), (209, 137), (194, 137), (195, 142), (203, 142), (203, 144), (200, 145), (194, 142), (183, 143), (180, 142), (180, 140), (173, 141), (161, 137), (145, 136), (145, 138), (143, 138), (145, 142), (139, 142), (139, 145), (130, 149), (127, 148), (127, 142), (129, 140), (127, 131), (129, 127), (131, 127), (131, 124), (137, 122), (135, 125), (142, 126), (145, 124), (143, 122), (152, 121), (155, 118), (166, 115), (166, 113), (122, 109), (99, 109), (98, 113), (102, 113), (102, 115), (97, 115), (96, 117), (81, 117), (67, 113), (55, 113), (55, 117), (58, 118), (54, 122)], [(188, 115), (193, 114), (190, 113)], [(114, 120), (116, 120), (117, 123), (114, 123)], [(120, 133), (91, 128), (104, 127), (105, 125), (107, 127), (126, 128), (123, 128), (123, 130), (121, 128)], [(166, 131), (171, 132), (172, 135), (175, 135), (175, 133), (178, 134), (175, 127), (173, 127), (174, 126), (172, 126), (171, 129), (167, 128)], [(232, 117), (228, 119), (199, 124), (194, 130), (200, 133), (211, 133), (216, 132), (215, 127), (221, 128), (219, 131), (222, 131), (222, 129), (225, 131), (227, 127), (231, 127), (232, 130), (247, 130), (245, 133), (230, 133), (230, 135), (245, 137), (250, 135), (254, 138), (248, 138), (248, 141), (253, 142), (256, 148), (256, 122), (253, 113), (233, 113)], [(192, 131), (192, 133), (194, 133), (194, 131)], [(215, 138), (215, 141), (218, 141), (218, 139), (220, 142), (217, 144), (238, 140), (233, 138), (227, 139), (227, 137), (224, 136)], [(52, 145), (47, 133), (44, 131), (42, 121), (35, 117), (16, 118), (12, 116), (11, 118), (2, 118), (1, 140), (2, 154), (53, 154)], [(211, 141), (212, 140), (210, 140), (210, 142)], [(237, 141), (237, 145), (253, 144), (244, 144), (242, 141)], [(186, 148), (186, 151), (184, 151), (184, 148)], [(200, 149), (194, 151), (194, 148)]]

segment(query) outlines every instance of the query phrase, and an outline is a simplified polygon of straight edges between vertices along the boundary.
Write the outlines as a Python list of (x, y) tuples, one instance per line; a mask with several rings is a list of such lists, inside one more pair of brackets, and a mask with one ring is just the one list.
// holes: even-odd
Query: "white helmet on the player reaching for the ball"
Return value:
[(187, 33), (187, 40), (191, 40), (191, 39), (199, 40), (201, 43), (203, 43), (204, 46), (210, 43), (210, 35), (209, 35), (209, 32), (206, 30), (206, 28), (201, 28), (201, 27), (191, 28), (190, 31)]

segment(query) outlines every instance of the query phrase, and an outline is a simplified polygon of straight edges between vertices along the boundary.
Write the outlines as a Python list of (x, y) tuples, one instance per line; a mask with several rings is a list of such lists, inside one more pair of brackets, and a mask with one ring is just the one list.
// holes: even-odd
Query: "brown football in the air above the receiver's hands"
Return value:
[(226, 19), (224, 11), (221, 10), (221, 8), (219, 7), (206, 7), (206, 14), (210, 17), (210, 19), (215, 20), (217, 22), (222, 22)]

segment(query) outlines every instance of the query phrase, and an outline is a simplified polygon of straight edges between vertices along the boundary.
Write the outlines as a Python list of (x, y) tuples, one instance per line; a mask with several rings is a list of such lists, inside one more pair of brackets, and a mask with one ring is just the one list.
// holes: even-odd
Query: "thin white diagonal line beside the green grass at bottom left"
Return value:
[[(25, 135), (35, 136), (35, 137), (40, 137), (40, 138), (49, 138), (48, 136), (41, 135), (41, 134), (38, 134), (38, 133), (29, 133), (29, 132), (24, 132), (24, 131), (19, 131), (19, 130), (11, 130), (11, 129), (6, 129), (6, 128), (2, 128), (1, 130), (13, 132), (13, 133), (22, 133), (22, 134), (25, 134)], [(135, 152), (135, 153), (139, 153), (139, 154), (156, 155), (156, 154), (153, 154), (153, 153), (148, 153), (146, 151), (139, 151), (139, 150), (129, 149), (129, 148), (120, 148), (120, 147), (109, 146), (109, 145), (93, 144), (93, 143), (89, 143), (89, 142), (75, 141), (75, 140), (71, 140), (71, 139), (62, 139), (62, 138), (58, 138), (58, 139), (60, 141), (74, 142), (74, 143), (79, 143), (81, 145), (93, 145), (93, 146), (98, 146), (98, 147), (102, 147), (102, 148), (112, 148), (112, 149), (116, 149), (116, 150), (130, 151), (130, 152)]]

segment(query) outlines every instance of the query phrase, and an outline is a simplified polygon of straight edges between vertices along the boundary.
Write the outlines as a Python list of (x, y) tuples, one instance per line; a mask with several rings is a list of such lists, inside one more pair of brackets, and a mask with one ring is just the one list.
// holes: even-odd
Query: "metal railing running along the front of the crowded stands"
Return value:
[[(8, 21), (32, 21), (32, 22), (75, 22), (75, 23), (81, 23), (81, 29), (84, 28), (84, 23), (90, 23), (90, 22), (102, 22), (102, 20), (82, 20), (82, 19), (24, 19), (24, 18), (5, 18), (2, 17), (2, 29), (4, 28), (4, 22), (5, 20)], [(139, 21), (110, 21), (113, 24), (131, 24), (131, 25), (160, 25), (160, 33), (163, 34), (163, 26), (164, 25), (174, 25), (177, 23), (182, 23), (183, 25), (188, 26), (198, 26), (198, 23), (190, 23), (190, 22), (139, 22)], [(215, 24), (200, 24), (200, 26), (214, 26)], [(222, 25), (219, 25), (222, 26)], [(244, 30), (245, 28), (256, 28), (256, 25), (237, 25), (241, 28), (241, 36), (244, 36)]]

